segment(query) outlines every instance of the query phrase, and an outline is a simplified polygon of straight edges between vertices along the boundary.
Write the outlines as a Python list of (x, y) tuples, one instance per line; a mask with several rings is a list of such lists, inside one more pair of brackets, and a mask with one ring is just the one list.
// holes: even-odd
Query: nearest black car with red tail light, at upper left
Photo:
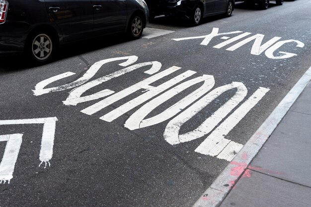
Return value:
[(148, 20), (144, 0), (0, 0), (0, 54), (44, 63), (66, 43), (119, 32), (137, 39)]

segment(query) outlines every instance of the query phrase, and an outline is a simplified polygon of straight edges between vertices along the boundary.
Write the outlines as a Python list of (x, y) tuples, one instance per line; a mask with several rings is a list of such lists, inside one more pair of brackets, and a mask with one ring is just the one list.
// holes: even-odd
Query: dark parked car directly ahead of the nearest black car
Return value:
[(202, 18), (225, 13), (231, 16), (234, 0), (146, 0), (150, 17), (157, 15), (177, 15), (190, 19), (193, 24), (201, 23)]

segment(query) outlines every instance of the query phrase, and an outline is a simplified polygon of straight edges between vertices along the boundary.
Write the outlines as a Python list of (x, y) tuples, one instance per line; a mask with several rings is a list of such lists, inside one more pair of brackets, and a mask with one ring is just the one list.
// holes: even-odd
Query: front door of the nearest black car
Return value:
[(94, 36), (125, 31), (126, 0), (91, 0)]

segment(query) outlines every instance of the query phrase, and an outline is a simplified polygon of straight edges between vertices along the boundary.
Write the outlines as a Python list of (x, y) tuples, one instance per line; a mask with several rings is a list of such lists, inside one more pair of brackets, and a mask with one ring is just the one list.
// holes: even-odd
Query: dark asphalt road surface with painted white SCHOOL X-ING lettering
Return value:
[(0, 206), (193, 205), (310, 67), (310, 10), (239, 2), (43, 66), (0, 57)]

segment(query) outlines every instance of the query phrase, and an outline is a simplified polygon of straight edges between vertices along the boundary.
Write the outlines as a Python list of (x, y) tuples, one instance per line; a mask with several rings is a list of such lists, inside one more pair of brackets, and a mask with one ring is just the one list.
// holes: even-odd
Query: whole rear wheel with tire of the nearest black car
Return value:
[(45, 64), (53, 59), (57, 50), (57, 41), (48, 31), (32, 33), (26, 43), (26, 55), (36, 64)]

